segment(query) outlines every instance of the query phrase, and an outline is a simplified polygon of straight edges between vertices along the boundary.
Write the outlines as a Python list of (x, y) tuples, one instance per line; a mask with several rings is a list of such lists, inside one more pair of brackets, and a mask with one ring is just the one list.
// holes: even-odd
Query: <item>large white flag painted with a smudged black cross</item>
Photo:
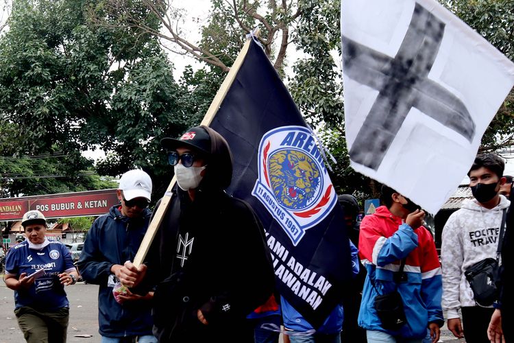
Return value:
[(437, 213), (514, 84), (514, 64), (433, 0), (341, 1), (352, 167)]

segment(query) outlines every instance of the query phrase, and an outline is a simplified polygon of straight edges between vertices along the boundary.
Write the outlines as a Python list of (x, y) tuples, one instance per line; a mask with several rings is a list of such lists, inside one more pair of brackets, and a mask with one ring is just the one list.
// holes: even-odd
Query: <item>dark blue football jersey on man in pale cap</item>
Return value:
[(45, 269), (46, 274), (36, 279), (29, 289), (14, 291), (16, 309), (29, 306), (54, 311), (69, 307), (58, 274), (75, 271), (75, 265), (64, 244), (51, 241), (44, 248), (36, 250), (29, 248), (29, 243), (23, 241), (11, 248), (5, 260), (5, 274), (16, 275), (18, 278), (23, 272), (29, 275), (40, 269)]

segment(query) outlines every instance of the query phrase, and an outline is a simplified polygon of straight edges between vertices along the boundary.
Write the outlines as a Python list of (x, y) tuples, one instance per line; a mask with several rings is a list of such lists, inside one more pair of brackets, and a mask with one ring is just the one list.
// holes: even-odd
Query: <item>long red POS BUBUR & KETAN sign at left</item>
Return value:
[(29, 210), (39, 210), (49, 219), (102, 215), (115, 204), (119, 204), (116, 189), (3, 198), (0, 199), (0, 220), (21, 220)]

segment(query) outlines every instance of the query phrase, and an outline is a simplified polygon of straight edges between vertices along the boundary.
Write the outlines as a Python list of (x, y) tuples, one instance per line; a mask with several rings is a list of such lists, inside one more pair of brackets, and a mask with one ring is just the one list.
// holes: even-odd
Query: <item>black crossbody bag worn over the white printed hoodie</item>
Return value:
[(500, 295), (500, 254), (502, 252), (503, 233), (505, 228), (506, 209), (503, 210), (502, 226), (498, 237), (496, 259), (488, 257), (467, 268), (464, 272), (469, 285), (473, 290), (475, 302), (483, 307), (489, 307), (498, 300)]

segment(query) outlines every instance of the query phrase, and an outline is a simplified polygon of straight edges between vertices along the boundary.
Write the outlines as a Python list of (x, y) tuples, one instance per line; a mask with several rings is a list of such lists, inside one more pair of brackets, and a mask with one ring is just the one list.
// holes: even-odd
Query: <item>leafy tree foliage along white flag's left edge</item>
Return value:
[(294, 73), (289, 77), (291, 95), (313, 126), (324, 122), (343, 133), (341, 69), (332, 57), (334, 51), (341, 51), (340, 3), (303, 0), (299, 1), (299, 9), (302, 16), (293, 38), (305, 57), (293, 65)]

